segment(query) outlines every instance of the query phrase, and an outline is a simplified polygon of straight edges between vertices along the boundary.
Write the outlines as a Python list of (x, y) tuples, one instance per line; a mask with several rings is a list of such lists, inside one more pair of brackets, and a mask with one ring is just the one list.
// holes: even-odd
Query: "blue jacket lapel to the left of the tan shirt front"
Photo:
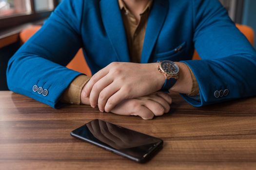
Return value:
[(121, 62), (130, 62), (127, 38), (118, 0), (101, 0), (100, 11), (104, 27), (117, 53), (118, 60)]

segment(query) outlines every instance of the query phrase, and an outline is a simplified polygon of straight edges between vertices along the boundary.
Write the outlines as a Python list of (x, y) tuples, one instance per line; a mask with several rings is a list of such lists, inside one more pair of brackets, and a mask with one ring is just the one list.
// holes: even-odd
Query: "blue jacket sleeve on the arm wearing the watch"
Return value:
[(192, 0), (194, 44), (201, 60), (183, 61), (194, 72), (202, 106), (256, 95), (256, 51), (218, 0)]

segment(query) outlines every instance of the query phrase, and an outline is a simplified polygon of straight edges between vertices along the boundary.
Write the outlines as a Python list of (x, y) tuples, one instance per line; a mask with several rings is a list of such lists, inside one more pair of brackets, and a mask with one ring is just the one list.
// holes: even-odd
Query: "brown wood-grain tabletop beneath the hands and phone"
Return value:
[[(70, 132), (92, 119), (160, 137), (163, 149), (138, 164)], [(256, 98), (194, 108), (177, 94), (171, 113), (153, 120), (100, 113), (85, 105), (59, 110), (0, 92), (0, 170), (256, 170)]]

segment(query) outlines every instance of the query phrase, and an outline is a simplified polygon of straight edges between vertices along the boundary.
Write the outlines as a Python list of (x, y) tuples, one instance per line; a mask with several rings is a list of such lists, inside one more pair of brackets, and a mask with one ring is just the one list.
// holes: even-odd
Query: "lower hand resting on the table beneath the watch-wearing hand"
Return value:
[(153, 119), (170, 111), (172, 98), (169, 94), (155, 92), (151, 95), (135, 99), (127, 99), (119, 103), (112, 113), (125, 116), (140, 116), (142, 119)]

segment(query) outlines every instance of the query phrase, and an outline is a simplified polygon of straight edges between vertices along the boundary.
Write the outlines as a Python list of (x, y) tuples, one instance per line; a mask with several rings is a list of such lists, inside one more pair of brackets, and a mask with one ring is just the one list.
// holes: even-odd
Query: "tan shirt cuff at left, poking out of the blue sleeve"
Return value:
[(90, 77), (86, 75), (80, 75), (77, 78), (75, 78), (63, 93), (60, 101), (71, 104), (80, 104), (82, 88), (89, 80)]

